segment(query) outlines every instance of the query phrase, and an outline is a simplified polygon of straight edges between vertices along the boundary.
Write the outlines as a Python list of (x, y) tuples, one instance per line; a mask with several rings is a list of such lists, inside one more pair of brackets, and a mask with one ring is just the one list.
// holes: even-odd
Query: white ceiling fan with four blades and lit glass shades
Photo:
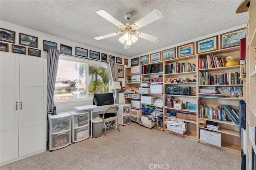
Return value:
[[(122, 35), (122, 37), (119, 38), (119, 41), (122, 44), (124, 44), (124, 49), (130, 48), (130, 45), (132, 45), (132, 43), (137, 42), (138, 37), (143, 38), (148, 41), (151, 41), (151, 42), (155, 42), (155, 43), (160, 40), (160, 38), (158, 38), (158, 37), (151, 36), (149, 34), (145, 34), (143, 32), (137, 31), (139, 28), (142, 28), (143, 26), (146, 26), (146, 25), (150, 24), (151, 22), (154, 22), (163, 17), (161, 12), (158, 9), (153, 10), (148, 15), (144, 16), (143, 18), (141, 18), (134, 24), (122, 24), (121, 22), (119, 22), (116, 18), (114, 18), (112, 15), (110, 15), (105, 10), (99, 10), (96, 12), (96, 14), (102, 16), (109, 22), (112, 22), (112, 24), (115, 24), (120, 29), (120, 31), (118, 31), (118, 32), (114, 32), (114, 33), (107, 34), (104, 36), (95, 37), (94, 39), (96, 39), (96, 40), (102, 40), (104, 38), (110, 38), (113, 36), (124, 34), (124, 35)], [(132, 14), (126, 13), (124, 15), (124, 17), (126, 20), (130, 20), (130, 18), (132, 17)]]

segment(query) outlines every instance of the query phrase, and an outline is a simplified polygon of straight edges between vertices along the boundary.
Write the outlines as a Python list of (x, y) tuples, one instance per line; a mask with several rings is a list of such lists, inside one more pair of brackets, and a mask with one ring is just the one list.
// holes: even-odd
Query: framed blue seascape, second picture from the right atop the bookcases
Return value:
[(215, 51), (218, 49), (218, 36), (213, 36), (196, 42), (196, 53)]

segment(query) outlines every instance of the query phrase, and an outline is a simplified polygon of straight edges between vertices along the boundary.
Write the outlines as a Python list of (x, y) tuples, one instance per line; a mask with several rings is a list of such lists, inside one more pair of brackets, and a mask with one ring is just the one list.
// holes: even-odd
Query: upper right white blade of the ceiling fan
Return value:
[(135, 22), (134, 24), (139, 28), (142, 28), (143, 26), (146, 26), (151, 22), (154, 22), (162, 17), (163, 17), (162, 13), (158, 9), (155, 9), (152, 12), (150, 12), (148, 15), (144, 16), (143, 18)]

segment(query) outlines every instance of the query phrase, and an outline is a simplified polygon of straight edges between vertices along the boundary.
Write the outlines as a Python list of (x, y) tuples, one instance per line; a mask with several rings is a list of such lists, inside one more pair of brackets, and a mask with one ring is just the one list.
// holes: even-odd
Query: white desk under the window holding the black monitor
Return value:
[(85, 105), (85, 106), (76, 106), (74, 108), (78, 111), (90, 111), (90, 113), (91, 113), (91, 118), (90, 118), (91, 134), (90, 134), (90, 136), (92, 137), (92, 113), (105, 111), (108, 107), (111, 107), (111, 106), (118, 106), (118, 104), (115, 103), (113, 105), (104, 105), (104, 106)]

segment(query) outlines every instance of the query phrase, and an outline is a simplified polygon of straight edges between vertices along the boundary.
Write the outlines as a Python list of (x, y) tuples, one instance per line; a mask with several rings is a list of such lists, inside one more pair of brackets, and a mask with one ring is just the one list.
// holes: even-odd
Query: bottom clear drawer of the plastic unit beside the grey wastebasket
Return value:
[(82, 128), (72, 129), (72, 142), (79, 142), (89, 138), (89, 124)]

